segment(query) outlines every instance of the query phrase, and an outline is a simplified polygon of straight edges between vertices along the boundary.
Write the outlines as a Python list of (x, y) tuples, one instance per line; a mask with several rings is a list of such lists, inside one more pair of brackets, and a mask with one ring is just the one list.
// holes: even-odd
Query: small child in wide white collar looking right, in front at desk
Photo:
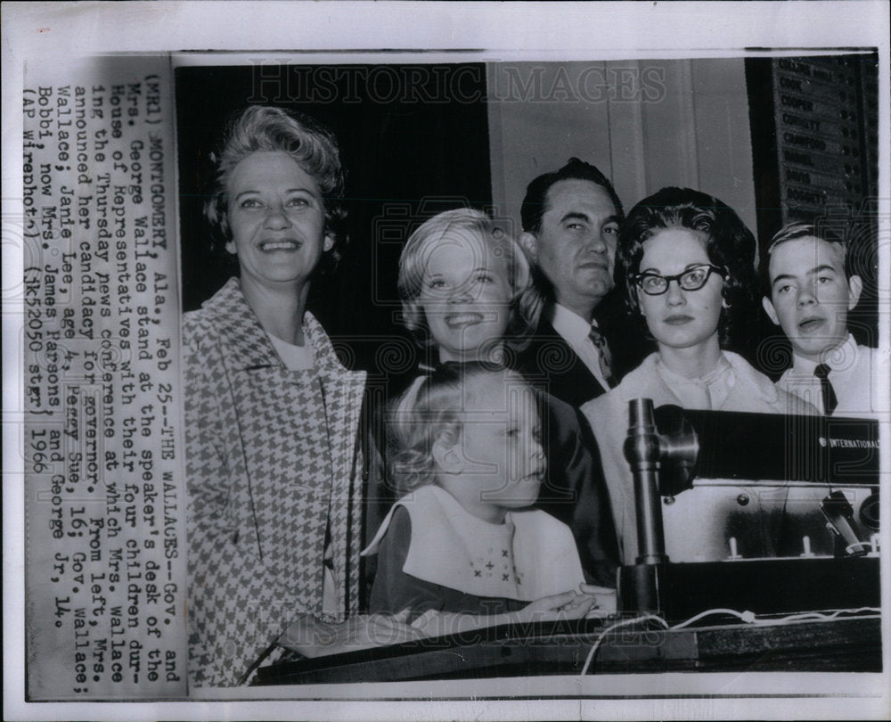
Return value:
[(470, 363), (413, 382), (391, 419), (403, 496), (363, 553), (379, 555), (370, 611), (407, 611), (438, 636), (577, 619), (595, 605), (572, 533), (531, 508), (544, 479), (540, 433), (517, 373)]

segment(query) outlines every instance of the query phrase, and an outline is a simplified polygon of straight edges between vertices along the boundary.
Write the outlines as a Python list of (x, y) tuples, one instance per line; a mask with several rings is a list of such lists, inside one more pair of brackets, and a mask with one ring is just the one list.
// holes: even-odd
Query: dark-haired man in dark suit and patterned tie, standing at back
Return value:
[(615, 385), (616, 362), (630, 353), (616, 353), (627, 334), (609, 328), (623, 316), (610, 294), (622, 204), (600, 170), (571, 158), (528, 185), (520, 214), (519, 240), (546, 304), (519, 366), (535, 385), (577, 408)]

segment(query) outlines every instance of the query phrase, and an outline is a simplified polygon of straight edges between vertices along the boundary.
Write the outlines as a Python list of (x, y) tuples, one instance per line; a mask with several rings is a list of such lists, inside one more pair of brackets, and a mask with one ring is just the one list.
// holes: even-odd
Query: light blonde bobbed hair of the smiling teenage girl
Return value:
[(446, 210), (425, 221), (409, 236), (399, 257), (397, 287), (402, 299), (403, 323), (423, 347), (432, 345), (429, 325), (419, 298), (431, 253), (445, 238), (476, 237), (504, 258), (511, 285), (511, 319), (504, 332), (505, 344), (519, 351), (535, 330), (542, 299), (531, 283), (529, 263), (519, 243), (495, 225), (481, 210)]

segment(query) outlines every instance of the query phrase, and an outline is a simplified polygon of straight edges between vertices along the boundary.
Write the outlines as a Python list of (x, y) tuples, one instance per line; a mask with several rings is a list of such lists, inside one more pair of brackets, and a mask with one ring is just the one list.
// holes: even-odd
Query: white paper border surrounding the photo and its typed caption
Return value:
[[(879, 49), (879, 213), (882, 244), (879, 278), (891, 277), (891, 187), (889, 155), (889, 14), (882, 0), (852, 2), (729, 3), (7, 3), (3, 5), (3, 213), (20, 212), (20, 97), (29, 58), (56, 59), (105, 53), (173, 53), (183, 64), (244, 62), (262, 53), (299, 62), (560, 61), (596, 58), (647, 59), (721, 57), (789, 51), (796, 54), (840, 49)], [(218, 53), (203, 53), (217, 50)], [(199, 54), (200, 53), (200, 54)], [(223, 55), (219, 53), (235, 53)], [(14, 239), (13, 239), (14, 241)], [(18, 283), (20, 248), (4, 229), (4, 291)], [(888, 299), (880, 316), (880, 348), (891, 348)], [(4, 299), (4, 340), (20, 332), (21, 309)], [(784, 696), (775, 675), (726, 675), (720, 698), (674, 694), (690, 675), (634, 676), (642, 689), (615, 700), (593, 695), (577, 701), (580, 688), (548, 677), (501, 680), (503, 696), (516, 701), (467, 700), (431, 708), (429, 701), (402, 701), (417, 685), (350, 685), (349, 689), (263, 688), (257, 697), (291, 701), (245, 701), (245, 690), (226, 693), (232, 701), (140, 703), (24, 703), (23, 484), (20, 429), (23, 423), (21, 359), (4, 344), (4, 718), (8, 719), (197, 719), (197, 718), (887, 718), (891, 714), (888, 579), (883, 579), (884, 644), (881, 675), (807, 675), (801, 696)], [(880, 430), (881, 463), (891, 468), (887, 416)], [(882, 515), (888, 517), (888, 495)], [(888, 546), (891, 525), (883, 529)], [(797, 682), (801, 680), (797, 679)], [(510, 683), (510, 684), (507, 684)], [(712, 685), (709, 685), (712, 686)], [(409, 689), (411, 687), (412, 689)], [(559, 687), (559, 691), (554, 690)], [(490, 687), (491, 688), (491, 687)], [(752, 693), (757, 689), (758, 693)], [(575, 690), (575, 691), (574, 691)], [(549, 693), (550, 691), (550, 693)], [(413, 694), (409, 694), (413, 692)], [(529, 699), (540, 694), (550, 699)], [(564, 697), (564, 694), (566, 695)], [(813, 696), (811, 696), (813, 694)], [(429, 695), (428, 695), (429, 696)], [(439, 696), (439, 695), (437, 695)], [(486, 696), (490, 696), (486, 694)], [(616, 695), (618, 696), (618, 695)], [(636, 698), (634, 698), (636, 696)], [(369, 697), (377, 698), (369, 701)], [(380, 699), (383, 697), (383, 699)], [(236, 701), (237, 700), (237, 701)]]

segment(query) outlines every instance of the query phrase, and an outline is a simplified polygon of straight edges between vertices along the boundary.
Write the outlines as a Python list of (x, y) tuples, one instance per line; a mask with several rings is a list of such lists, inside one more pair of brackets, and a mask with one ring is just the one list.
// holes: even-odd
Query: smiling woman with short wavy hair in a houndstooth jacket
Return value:
[(336, 140), (252, 106), (216, 162), (205, 215), (240, 274), (184, 319), (192, 685), (240, 684), (301, 613), (356, 612), (362, 545), (365, 377), (306, 312), (345, 215)]

